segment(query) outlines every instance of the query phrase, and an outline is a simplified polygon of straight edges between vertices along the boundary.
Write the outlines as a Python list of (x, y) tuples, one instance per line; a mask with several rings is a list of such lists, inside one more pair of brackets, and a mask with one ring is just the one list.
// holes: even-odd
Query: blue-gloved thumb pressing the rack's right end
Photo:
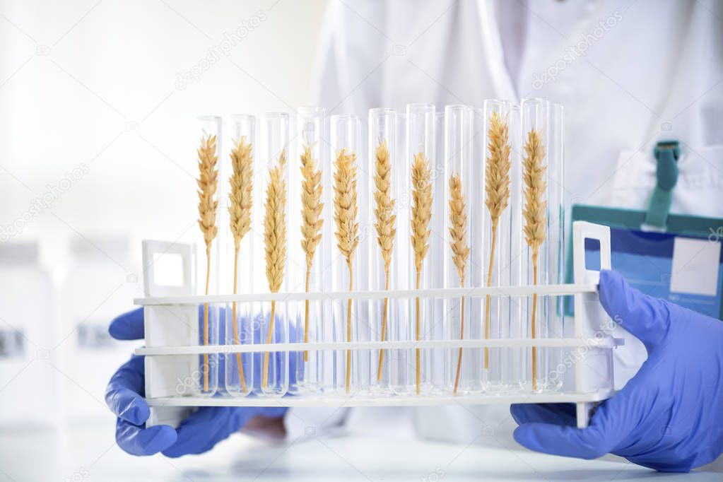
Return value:
[(615, 271), (600, 272), (600, 303), (607, 314), (641, 340), (650, 353), (670, 327), (670, 307), (666, 301), (644, 295), (628, 285)]

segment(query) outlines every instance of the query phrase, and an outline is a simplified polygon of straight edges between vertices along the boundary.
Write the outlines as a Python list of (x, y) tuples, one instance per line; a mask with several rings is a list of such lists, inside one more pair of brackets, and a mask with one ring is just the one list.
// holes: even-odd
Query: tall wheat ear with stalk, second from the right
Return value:
[[(495, 245), (497, 244), (497, 225), (500, 216), (510, 199), (510, 143), (507, 119), (492, 112), (489, 116), (487, 130), (487, 171), (484, 173), (484, 189), (487, 191), (485, 205), (492, 220), (492, 247), (489, 249), (489, 269), (487, 270), (487, 286), (492, 284), (492, 266), (495, 263)], [(484, 339), (489, 340), (489, 304), (487, 295), (484, 304)], [(489, 368), (489, 348), (484, 348), (484, 369)]]

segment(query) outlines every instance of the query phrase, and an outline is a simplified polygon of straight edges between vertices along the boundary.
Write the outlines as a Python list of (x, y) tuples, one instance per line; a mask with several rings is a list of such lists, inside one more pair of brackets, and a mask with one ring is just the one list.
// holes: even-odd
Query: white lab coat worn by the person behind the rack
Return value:
[[(723, 217), (723, 3), (523, 5), (526, 38), (516, 82), (505, 66), (498, 7), (494, 0), (332, 0), (315, 103), (364, 119), (369, 108), (403, 111), (415, 102), (441, 108), (482, 106), (486, 98), (549, 98), (566, 109), (566, 205), (645, 208), (655, 184), (653, 147), (675, 138), (682, 158), (672, 212)], [(587, 48), (576, 55), (572, 46)], [(547, 82), (545, 72), (555, 80)], [(620, 363), (630, 376), (645, 350), (629, 336), (628, 345)], [(508, 407), (500, 406), (389, 409), (386, 415), (347, 410), (292, 410), (297, 416), (287, 416), (287, 428), (293, 433), (325, 420), (367, 431), (383, 424), (389, 431), (393, 419), (419, 436), (499, 445), (510, 443), (515, 427)], [(485, 433), (492, 436), (480, 436)]]

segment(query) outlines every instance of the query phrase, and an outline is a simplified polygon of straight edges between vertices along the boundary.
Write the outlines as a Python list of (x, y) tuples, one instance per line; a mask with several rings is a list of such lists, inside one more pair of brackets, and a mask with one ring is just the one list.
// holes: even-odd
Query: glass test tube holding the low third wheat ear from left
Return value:
[[(265, 171), (262, 191), (257, 192), (255, 203), (261, 212), (263, 226), (261, 237), (265, 259), (265, 290), (278, 293), (288, 290), (288, 211), (291, 206), (288, 194), (289, 163), (289, 117), (288, 113), (265, 113), (260, 118), (260, 145), (258, 168)], [(257, 343), (286, 343), (289, 336), (288, 303), (286, 301), (260, 303), (257, 316), (259, 329)], [(288, 352), (268, 351), (257, 353), (254, 365), (260, 367), (260, 395), (281, 396), (288, 390)]]

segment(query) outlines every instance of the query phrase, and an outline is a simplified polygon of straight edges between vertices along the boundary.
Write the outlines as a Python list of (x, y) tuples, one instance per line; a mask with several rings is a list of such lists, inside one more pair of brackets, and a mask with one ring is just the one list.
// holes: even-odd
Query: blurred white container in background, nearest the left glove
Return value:
[(61, 330), (53, 350), (61, 359), (63, 416), (68, 421), (108, 418), (108, 380), (138, 344), (114, 340), (108, 325), (134, 309), (133, 298), (142, 296), (140, 270), (130, 261), (130, 240), (124, 236), (77, 237), (69, 251), (72, 262), (61, 282)]

